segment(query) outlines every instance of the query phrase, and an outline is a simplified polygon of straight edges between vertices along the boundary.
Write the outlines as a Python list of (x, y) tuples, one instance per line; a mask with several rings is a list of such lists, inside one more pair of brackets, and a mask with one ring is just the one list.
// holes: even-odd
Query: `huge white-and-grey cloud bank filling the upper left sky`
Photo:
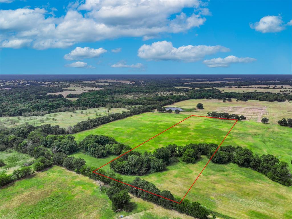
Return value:
[[(193, 8), (186, 15), (183, 8)], [(1, 41), (30, 40), (34, 49), (65, 48), (78, 42), (118, 37), (150, 39), (203, 25), (210, 14), (201, 1), (78, 1), (65, 16), (44, 8), (1, 10)], [(175, 15), (175, 16), (173, 16)], [(13, 47), (15, 48), (15, 47)]]

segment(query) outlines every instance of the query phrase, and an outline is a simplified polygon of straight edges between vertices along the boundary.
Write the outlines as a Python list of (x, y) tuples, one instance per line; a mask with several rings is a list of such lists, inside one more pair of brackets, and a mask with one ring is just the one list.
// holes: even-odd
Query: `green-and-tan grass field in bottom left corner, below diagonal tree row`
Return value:
[(79, 218), (147, 218), (160, 219), (192, 217), (166, 210), (150, 202), (132, 197), (137, 206), (132, 212), (115, 213), (107, 195), (100, 192), (93, 180), (59, 166), (15, 181), (1, 188), (0, 218), (2, 219), (79, 219)]

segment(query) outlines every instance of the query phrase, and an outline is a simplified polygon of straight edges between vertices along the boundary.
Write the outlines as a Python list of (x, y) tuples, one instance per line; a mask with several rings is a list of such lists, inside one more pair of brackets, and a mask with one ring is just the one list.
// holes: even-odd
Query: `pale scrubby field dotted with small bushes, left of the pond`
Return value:
[[(83, 114), (81, 114), (81, 111), (83, 112)], [(67, 111), (67, 112), (60, 112), (60, 113), (49, 113), (49, 114), (40, 115), (40, 116), (0, 117), (0, 123), (1, 123), (0, 125), (2, 127), (15, 127), (15, 126), (25, 125), (25, 124), (37, 126), (37, 125), (43, 125), (43, 124), (49, 123), (51, 125), (60, 125), (60, 127), (67, 128), (81, 121), (88, 120), (88, 118), (92, 119), (92, 118), (108, 115), (108, 113), (121, 113), (122, 111), (128, 111), (128, 110), (125, 108), (112, 108), (111, 110), (108, 110), (105, 107), (101, 107), (101, 108), (92, 108), (92, 109), (87, 109), (87, 110), (76, 110), (75, 113)]]

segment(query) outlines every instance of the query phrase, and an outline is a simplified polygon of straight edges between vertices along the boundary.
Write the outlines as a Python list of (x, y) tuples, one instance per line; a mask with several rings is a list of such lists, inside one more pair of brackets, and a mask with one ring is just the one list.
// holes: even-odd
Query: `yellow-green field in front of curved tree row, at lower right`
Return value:
[[(207, 157), (195, 164), (175, 163), (166, 171), (142, 176), (160, 190), (183, 198)], [(236, 164), (210, 162), (185, 199), (235, 218), (291, 218), (292, 187), (273, 182), (263, 174)]]

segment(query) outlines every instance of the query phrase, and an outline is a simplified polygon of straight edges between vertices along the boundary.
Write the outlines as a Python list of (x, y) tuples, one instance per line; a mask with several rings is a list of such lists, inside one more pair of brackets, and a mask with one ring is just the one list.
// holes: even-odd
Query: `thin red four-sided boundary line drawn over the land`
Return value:
[[(188, 118), (190, 118), (190, 117), (192, 117), (192, 116), (204, 117), (204, 118), (213, 118), (213, 119), (226, 119), (226, 118), (216, 118), (216, 117), (201, 116), (201, 115), (190, 115), (189, 117), (185, 118), (184, 120), (181, 120), (179, 123), (176, 123), (175, 125), (169, 127), (168, 129), (171, 129), (172, 127), (174, 127), (174, 126), (180, 124), (181, 122), (187, 120)], [(227, 135), (230, 133), (230, 131), (232, 130), (232, 128), (234, 127), (234, 125), (235, 125), (235, 124), (237, 123), (237, 121), (238, 121), (238, 120), (236, 120), (236, 119), (226, 119), (226, 120), (235, 120), (235, 123), (232, 125), (231, 129), (230, 129), (229, 132), (226, 134), (225, 138), (227, 137)], [(163, 132), (167, 131), (168, 129), (164, 130)], [(144, 143), (150, 141), (151, 139), (153, 139), (153, 138), (157, 137), (158, 135), (162, 134), (163, 132), (160, 132), (159, 134), (153, 136), (152, 138), (148, 139), (147, 141), (143, 142), (142, 144), (144, 144)], [(218, 151), (218, 149), (220, 148), (221, 144), (224, 142), (225, 138), (222, 140), (222, 142), (220, 143), (220, 145), (218, 146), (218, 148), (216, 149), (216, 151), (214, 152), (214, 154)], [(138, 146), (136, 146), (136, 147), (134, 147), (133, 149), (127, 151), (126, 153), (124, 153), (124, 154), (118, 156), (117, 158), (113, 159), (112, 161), (114, 161), (114, 160), (118, 159), (119, 157), (121, 157), (121, 156), (123, 156), (123, 155), (129, 153), (130, 151), (133, 151), (135, 148), (141, 146), (142, 144), (139, 144)], [(202, 169), (201, 173), (204, 171), (204, 169), (206, 168), (206, 166), (208, 165), (208, 163), (211, 161), (211, 159), (212, 159), (212, 157), (214, 156), (214, 154), (211, 156), (211, 158), (209, 159), (209, 161), (206, 163), (206, 165), (205, 165), (204, 168)], [(109, 162), (106, 163), (105, 165), (109, 164), (109, 163), (112, 162), (112, 161), (109, 161)], [(104, 167), (105, 165), (102, 165), (100, 168)], [(97, 168), (96, 170), (99, 170), (100, 168)], [(95, 172), (96, 170), (94, 170), (93, 173), (96, 173), (96, 172)], [(193, 182), (193, 184), (191, 185), (190, 189), (193, 187), (193, 185), (195, 184), (195, 182), (197, 181), (197, 179), (199, 178), (199, 176), (201, 175), (201, 173), (197, 176), (196, 180)], [(96, 174), (101, 175), (101, 176), (104, 176), (104, 177), (107, 177), (107, 178), (112, 179), (112, 180), (115, 180), (115, 181), (117, 181), (117, 182), (121, 182), (121, 181), (119, 181), (119, 180), (116, 180), (116, 179), (113, 179), (113, 178), (111, 178), (111, 177), (108, 177), (108, 176), (102, 175), (102, 174), (100, 174), (100, 173), (96, 173)], [(140, 188), (138, 188), (138, 187), (132, 186), (132, 185), (127, 184), (127, 183), (125, 183), (125, 182), (121, 182), (121, 183), (126, 184), (126, 185), (131, 186), (131, 187), (136, 188), (136, 189), (140, 189)], [(185, 196), (190, 192), (190, 189), (187, 191), (187, 193), (185, 194)], [(168, 198), (166, 198), (166, 197), (163, 197), (163, 196), (160, 196), (160, 195), (154, 194), (154, 193), (152, 193), (152, 192), (146, 191), (146, 190), (144, 190), (144, 189), (140, 189), (140, 190), (142, 190), (142, 191), (144, 191), (144, 192), (148, 192), (148, 193), (153, 194), (153, 195), (156, 195), (156, 196), (159, 196), (159, 197), (161, 197), (161, 198), (167, 199), (167, 200), (169, 200), (169, 201), (173, 201), (173, 202), (178, 203), (178, 204), (180, 204), (180, 203), (183, 201), (183, 199), (185, 198), (185, 196), (183, 196), (183, 199), (182, 199), (180, 202), (177, 202), (177, 201), (174, 201), (174, 200), (168, 199)]]

